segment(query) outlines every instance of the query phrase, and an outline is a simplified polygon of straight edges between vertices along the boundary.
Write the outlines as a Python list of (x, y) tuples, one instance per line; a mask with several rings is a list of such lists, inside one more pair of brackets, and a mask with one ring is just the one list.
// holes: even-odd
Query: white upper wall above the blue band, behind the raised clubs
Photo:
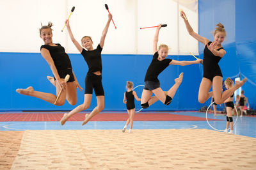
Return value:
[[(168, 24), (159, 33), (159, 44), (170, 46), (170, 54), (198, 52), (198, 43), (191, 38), (179, 17), (179, 1), (170, 0), (1, 0), (0, 52), (40, 52), (44, 43), (38, 29), (53, 22), (53, 42), (61, 43), (70, 53), (77, 49), (67, 34), (61, 32), (72, 6), (70, 26), (77, 41), (84, 35), (92, 36), (94, 47), (99, 43), (108, 20), (109, 6), (117, 29), (110, 23), (104, 45), (104, 54), (152, 54), (152, 39), (156, 31), (140, 27)], [(185, 7), (189, 22), (198, 31), (198, 14)]]

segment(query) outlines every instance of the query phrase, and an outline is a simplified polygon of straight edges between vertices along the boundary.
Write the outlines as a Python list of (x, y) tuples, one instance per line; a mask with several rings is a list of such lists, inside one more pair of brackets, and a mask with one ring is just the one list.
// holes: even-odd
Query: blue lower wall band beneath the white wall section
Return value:
[[(69, 54), (74, 73), (81, 87), (84, 88), (84, 77), (88, 71), (81, 54)], [(170, 56), (177, 60), (193, 60), (191, 56)], [(105, 91), (105, 110), (125, 110), (124, 98), (126, 81), (134, 82), (134, 86), (143, 84), (145, 73), (150, 64), (152, 55), (102, 55), (102, 83)], [(168, 90), (174, 79), (184, 72), (184, 81), (180, 85), (171, 105), (165, 106), (156, 102), (148, 110), (170, 111), (170, 110), (198, 110), (198, 88), (201, 80), (199, 65), (190, 66), (168, 66), (159, 75), (161, 88)], [(10, 53), (0, 52), (1, 94), (0, 111), (28, 111), (28, 110), (70, 110), (83, 103), (84, 90), (77, 89), (78, 102), (72, 106), (66, 102), (63, 106), (55, 106), (34, 97), (19, 95), (15, 92), (17, 88), (33, 86), (36, 91), (56, 93), (56, 89), (46, 76), (52, 75), (47, 62), (40, 53)], [(142, 87), (136, 89), (141, 97)], [(92, 110), (97, 104), (93, 95)], [(136, 102), (136, 109), (140, 109), (140, 102)]]

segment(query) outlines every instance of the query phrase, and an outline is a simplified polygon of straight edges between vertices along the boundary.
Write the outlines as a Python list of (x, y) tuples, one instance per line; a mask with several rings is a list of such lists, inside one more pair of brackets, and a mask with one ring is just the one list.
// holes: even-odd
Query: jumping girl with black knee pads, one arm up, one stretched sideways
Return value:
[[(154, 104), (157, 100), (160, 100), (165, 105), (169, 105), (172, 102), (177, 89), (183, 79), (183, 73), (180, 73), (179, 77), (175, 79), (175, 84), (168, 91), (163, 91), (160, 88), (160, 82), (157, 79), (158, 75), (163, 72), (163, 70), (169, 65), (191, 65), (198, 64), (202, 59), (197, 59), (196, 61), (176, 61), (174, 59), (166, 59), (168, 56), (168, 46), (160, 45), (157, 50), (157, 42), (159, 36), (159, 30), (161, 29), (161, 24), (156, 29), (156, 34), (153, 40), (153, 59), (148, 66), (147, 73), (145, 75), (145, 87), (141, 95), (141, 107), (143, 109), (148, 108), (150, 105)], [(156, 96), (151, 97), (152, 93)]]

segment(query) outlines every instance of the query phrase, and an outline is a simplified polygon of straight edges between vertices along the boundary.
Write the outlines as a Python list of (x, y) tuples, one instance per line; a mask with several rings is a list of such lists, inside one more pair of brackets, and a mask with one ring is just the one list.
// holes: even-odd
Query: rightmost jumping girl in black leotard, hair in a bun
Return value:
[[(243, 81), (236, 81), (235, 86), (221, 93), (223, 77), (218, 62), (226, 54), (226, 51), (221, 46), (226, 36), (224, 26), (220, 23), (216, 25), (214, 41), (210, 42), (207, 38), (193, 31), (188, 20), (185, 19), (186, 15), (184, 12), (180, 12), (180, 17), (184, 19), (189, 35), (205, 45), (204, 77), (200, 84), (198, 101), (203, 104), (213, 95), (216, 104), (223, 104), (223, 102), (230, 97), (236, 89), (243, 86), (244, 82), (247, 80), (244, 78)], [(186, 18), (188, 19), (188, 17)], [(209, 92), (211, 87), (212, 91)]]

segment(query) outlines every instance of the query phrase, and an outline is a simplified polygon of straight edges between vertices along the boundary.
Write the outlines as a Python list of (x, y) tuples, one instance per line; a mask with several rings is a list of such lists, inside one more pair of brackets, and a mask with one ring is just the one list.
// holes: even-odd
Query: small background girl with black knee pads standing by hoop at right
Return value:
[[(224, 82), (225, 86), (227, 89), (232, 88), (234, 82), (230, 79), (227, 78)], [(234, 93), (227, 98), (227, 100), (225, 100), (225, 104), (226, 104), (226, 111), (227, 111), (227, 125), (226, 125), (226, 129), (224, 130), (225, 133), (227, 134), (234, 134), (233, 132), (233, 118), (232, 118), (232, 114), (233, 114), (233, 110), (234, 110)], [(230, 132), (228, 132), (228, 127), (230, 125)]]

